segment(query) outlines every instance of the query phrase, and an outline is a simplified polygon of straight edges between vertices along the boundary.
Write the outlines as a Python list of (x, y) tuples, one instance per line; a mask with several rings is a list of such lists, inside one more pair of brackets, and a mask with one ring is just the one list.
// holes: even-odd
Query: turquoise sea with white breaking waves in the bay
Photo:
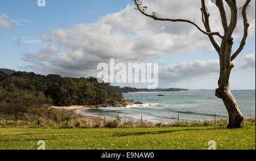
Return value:
[[(124, 98), (134, 101), (143, 101), (146, 104), (133, 105), (123, 108), (80, 109), (75, 111), (81, 115), (119, 116), (123, 121), (176, 122), (204, 121), (228, 118), (225, 106), (221, 99), (214, 96), (215, 91), (192, 90), (188, 92), (145, 92), (125, 94)], [(232, 91), (245, 117), (255, 117), (255, 90)], [(157, 96), (164, 95), (164, 96)]]

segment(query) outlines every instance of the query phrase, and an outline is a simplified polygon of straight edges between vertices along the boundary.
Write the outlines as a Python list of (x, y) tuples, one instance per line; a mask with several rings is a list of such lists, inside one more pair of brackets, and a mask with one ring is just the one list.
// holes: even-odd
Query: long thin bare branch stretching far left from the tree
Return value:
[(201, 29), (199, 26), (197, 26), (197, 24), (195, 24), (194, 22), (191, 22), (190, 20), (186, 20), (186, 19), (167, 19), (167, 18), (158, 18), (158, 16), (155, 15), (155, 12), (152, 12), (152, 15), (146, 14), (146, 12), (144, 12), (142, 10), (142, 4), (140, 3), (139, 0), (133, 0), (134, 4), (137, 6), (137, 9), (145, 16), (152, 18), (154, 20), (159, 20), (159, 21), (170, 21), (170, 22), (187, 22), (192, 24), (193, 26), (195, 26), (197, 29), (199, 29), (199, 31), (203, 32), (205, 35), (208, 36), (213, 36), (213, 35), (217, 35), (219, 36), (221, 39), (223, 38), (223, 36), (221, 36), (221, 34), (219, 32), (206, 32), (203, 29)]

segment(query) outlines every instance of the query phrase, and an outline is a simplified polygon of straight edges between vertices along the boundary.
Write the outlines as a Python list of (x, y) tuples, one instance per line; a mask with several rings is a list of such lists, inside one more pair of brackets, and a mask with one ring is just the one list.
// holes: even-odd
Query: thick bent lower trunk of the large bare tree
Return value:
[[(225, 54), (222, 56), (225, 57)], [(229, 87), (229, 77), (234, 65), (233, 63), (226, 63), (224, 57), (220, 60), (221, 72), (218, 81), (219, 88), (216, 89), (216, 96), (224, 101), (225, 107), (229, 113), (228, 128), (243, 128), (243, 115)]]

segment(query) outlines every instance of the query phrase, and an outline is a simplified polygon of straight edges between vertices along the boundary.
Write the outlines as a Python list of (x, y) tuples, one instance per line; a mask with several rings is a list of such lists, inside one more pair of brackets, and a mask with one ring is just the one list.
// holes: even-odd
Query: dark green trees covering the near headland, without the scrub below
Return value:
[(20, 71), (11, 75), (0, 71), (0, 90), (44, 95), (59, 106), (112, 104), (123, 99), (108, 83), (98, 83), (96, 78), (62, 78)]

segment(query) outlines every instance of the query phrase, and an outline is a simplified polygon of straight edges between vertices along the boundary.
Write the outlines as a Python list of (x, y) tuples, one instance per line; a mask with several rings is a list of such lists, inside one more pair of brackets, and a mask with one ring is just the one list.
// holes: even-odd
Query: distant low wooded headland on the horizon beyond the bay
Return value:
[(115, 92), (121, 93), (130, 93), (130, 92), (176, 92), (176, 91), (189, 91), (188, 89), (183, 88), (157, 88), (157, 89), (138, 89), (133, 87), (119, 87), (119, 86), (110, 86)]

